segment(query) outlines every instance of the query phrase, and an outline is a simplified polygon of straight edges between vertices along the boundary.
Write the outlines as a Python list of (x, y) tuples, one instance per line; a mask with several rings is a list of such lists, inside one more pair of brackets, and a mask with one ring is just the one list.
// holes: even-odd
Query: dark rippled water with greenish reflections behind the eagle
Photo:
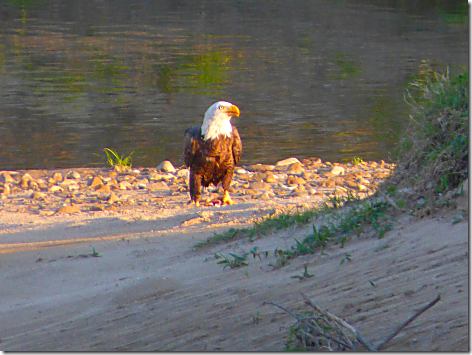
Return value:
[(406, 84), (468, 63), (461, 1), (0, 0), (0, 170), (183, 164), (236, 104), (242, 164), (388, 160)]

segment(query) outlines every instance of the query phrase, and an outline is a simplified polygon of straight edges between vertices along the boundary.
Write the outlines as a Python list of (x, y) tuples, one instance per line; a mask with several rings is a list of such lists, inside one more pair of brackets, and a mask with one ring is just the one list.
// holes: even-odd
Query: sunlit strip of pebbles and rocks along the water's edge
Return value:
[[(275, 165), (237, 167), (231, 184), (235, 204), (294, 198), (317, 199), (372, 194), (392, 174), (384, 161), (358, 164), (322, 162), (319, 158), (288, 158)], [(0, 212), (41, 216), (121, 211), (129, 206), (159, 211), (188, 206), (188, 169), (164, 161), (156, 168), (78, 168), (0, 171)], [(221, 187), (202, 195), (215, 204)]]

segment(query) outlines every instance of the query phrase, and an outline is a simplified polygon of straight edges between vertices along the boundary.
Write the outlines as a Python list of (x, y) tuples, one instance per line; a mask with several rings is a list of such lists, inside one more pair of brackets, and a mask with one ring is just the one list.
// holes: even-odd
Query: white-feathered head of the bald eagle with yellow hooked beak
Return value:
[(220, 134), (230, 137), (233, 131), (230, 122), (232, 116), (239, 116), (239, 108), (232, 103), (218, 101), (211, 105), (207, 112), (205, 112), (202, 124), (204, 139), (215, 139)]

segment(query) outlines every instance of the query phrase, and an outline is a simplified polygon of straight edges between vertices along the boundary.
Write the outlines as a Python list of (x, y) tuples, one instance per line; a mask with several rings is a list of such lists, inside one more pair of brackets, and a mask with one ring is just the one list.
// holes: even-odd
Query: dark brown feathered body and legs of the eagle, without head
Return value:
[[(219, 135), (215, 139), (204, 140), (201, 126), (195, 126), (185, 131), (184, 160), (190, 169), (190, 197), (199, 205), (202, 186), (210, 184), (217, 186), (220, 182), (228, 196), (228, 190), (233, 178), (235, 165), (241, 159), (242, 144), (236, 127), (232, 127), (230, 137)], [(223, 203), (226, 201), (223, 198)]]

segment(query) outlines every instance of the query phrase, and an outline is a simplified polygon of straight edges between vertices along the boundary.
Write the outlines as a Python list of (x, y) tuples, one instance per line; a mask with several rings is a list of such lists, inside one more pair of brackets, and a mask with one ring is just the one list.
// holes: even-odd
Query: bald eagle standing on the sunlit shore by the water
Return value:
[(239, 116), (239, 108), (218, 101), (205, 113), (203, 124), (185, 131), (184, 160), (190, 169), (190, 203), (198, 207), (202, 186), (223, 185), (223, 204), (232, 204), (229, 186), (234, 167), (241, 159), (242, 144), (236, 127), (231, 125), (231, 117)]

